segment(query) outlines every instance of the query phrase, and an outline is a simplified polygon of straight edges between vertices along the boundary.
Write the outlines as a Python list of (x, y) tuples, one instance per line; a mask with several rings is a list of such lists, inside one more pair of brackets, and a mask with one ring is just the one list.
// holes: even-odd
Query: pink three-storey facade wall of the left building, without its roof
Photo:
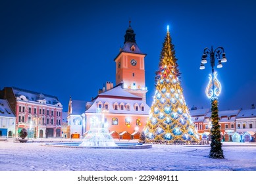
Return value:
[[(35, 112), (36, 109), (36, 112)], [(61, 137), (62, 107), (34, 101), (17, 101), (16, 104), (16, 133), (22, 127), (28, 129), (30, 137), (36, 131), (36, 137)], [(49, 112), (49, 114), (48, 114)]]

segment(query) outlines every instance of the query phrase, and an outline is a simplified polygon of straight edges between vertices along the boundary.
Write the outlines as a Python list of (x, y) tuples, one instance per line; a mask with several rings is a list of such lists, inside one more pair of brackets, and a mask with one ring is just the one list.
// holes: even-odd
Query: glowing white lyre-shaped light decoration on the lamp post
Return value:
[[(214, 84), (214, 91), (213, 91), (213, 84)], [(213, 76), (209, 74), (209, 83), (205, 89), (205, 94), (209, 99), (218, 97), (221, 92), (221, 84), (220, 81), (217, 79), (217, 72), (213, 73)]]

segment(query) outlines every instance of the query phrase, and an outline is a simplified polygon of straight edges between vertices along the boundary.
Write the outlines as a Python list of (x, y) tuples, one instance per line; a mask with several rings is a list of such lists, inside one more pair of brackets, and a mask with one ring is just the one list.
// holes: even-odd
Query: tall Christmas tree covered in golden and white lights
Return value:
[(163, 43), (159, 70), (155, 76), (155, 95), (145, 126), (147, 141), (199, 141), (183, 89), (174, 45), (168, 32)]

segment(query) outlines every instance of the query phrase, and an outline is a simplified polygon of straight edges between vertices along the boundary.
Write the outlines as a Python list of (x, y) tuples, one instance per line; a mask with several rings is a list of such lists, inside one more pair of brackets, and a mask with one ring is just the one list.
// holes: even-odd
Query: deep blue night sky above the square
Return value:
[(106, 81), (115, 85), (115, 62), (131, 18), (145, 57), (147, 104), (170, 25), (188, 107), (210, 108), (205, 95), (205, 47), (222, 46), (228, 62), (215, 68), (222, 83), (220, 110), (256, 103), (256, 1), (1, 1), (3, 87), (20, 87), (68, 100), (90, 101)]

